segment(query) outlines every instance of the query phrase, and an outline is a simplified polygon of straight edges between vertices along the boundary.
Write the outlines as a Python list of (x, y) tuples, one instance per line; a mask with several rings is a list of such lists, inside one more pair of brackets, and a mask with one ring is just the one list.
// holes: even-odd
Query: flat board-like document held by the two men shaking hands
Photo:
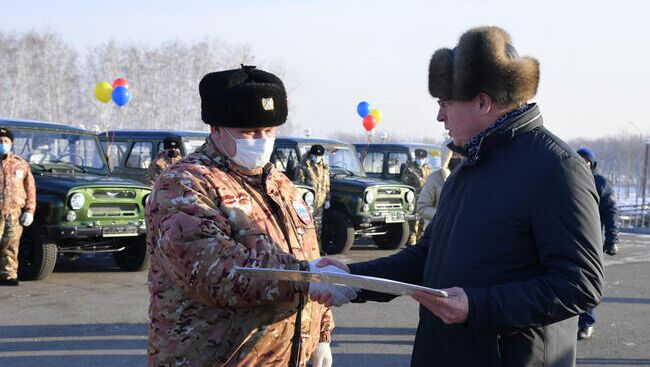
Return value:
[(411, 295), (416, 291), (424, 291), (439, 297), (447, 297), (445, 291), (422, 287), (415, 284), (397, 282), (390, 279), (375, 278), (365, 275), (347, 273), (311, 272), (299, 270), (284, 270), (271, 268), (243, 268), (236, 266), (235, 272), (251, 278), (271, 278), (294, 282), (317, 282), (346, 285), (353, 288), (366, 289), (375, 292), (394, 294), (396, 296)]

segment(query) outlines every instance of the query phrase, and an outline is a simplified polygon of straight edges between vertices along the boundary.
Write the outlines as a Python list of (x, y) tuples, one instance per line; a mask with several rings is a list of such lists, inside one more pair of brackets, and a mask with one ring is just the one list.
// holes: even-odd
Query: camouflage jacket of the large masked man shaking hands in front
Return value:
[(300, 366), (330, 341), (331, 311), (307, 284), (233, 272), (319, 256), (306, 204), (272, 164), (242, 170), (208, 140), (156, 181), (147, 226), (149, 366), (287, 366), (301, 303)]

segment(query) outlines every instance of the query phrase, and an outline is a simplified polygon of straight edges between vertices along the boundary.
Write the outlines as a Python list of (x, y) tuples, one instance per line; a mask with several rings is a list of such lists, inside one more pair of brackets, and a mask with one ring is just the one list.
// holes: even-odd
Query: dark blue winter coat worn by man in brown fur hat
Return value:
[(464, 324), (420, 307), (411, 366), (573, 366), (576, 315), (602, 297), (600, 238), (593, 175), (534, 106), (452, 173), (422, 241), (350, 268), (467, 293)]

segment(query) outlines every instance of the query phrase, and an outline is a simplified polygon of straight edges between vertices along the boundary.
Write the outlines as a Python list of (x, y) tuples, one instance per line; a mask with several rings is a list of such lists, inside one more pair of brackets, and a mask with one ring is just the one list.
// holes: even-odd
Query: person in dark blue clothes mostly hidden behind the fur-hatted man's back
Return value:
[[(609, 181), (605, 176), (596, 172), (598, 162), (596, 154), (589, 148), (578, 149), (578, 154), (587, 162), (587, 165), (594, 174), (596, 192), (600, 198), (598, 212), (600, 213), (600, 225), (605, 236), (603, 238), (603, 251), (610, 256), (618, 253), (618, 226), (616, 225), (616, 195)], [(594, 333), (596, 324), (596, 312), (591, 309), (580, 314), (578, 321), (578, 340), (589, 339)]]

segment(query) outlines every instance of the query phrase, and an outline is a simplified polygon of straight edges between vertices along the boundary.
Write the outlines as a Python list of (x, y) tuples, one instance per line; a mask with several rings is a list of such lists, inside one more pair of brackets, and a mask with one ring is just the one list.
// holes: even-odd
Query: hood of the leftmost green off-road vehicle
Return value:
[(39, 192), (56, 192), (67, 193), (71, 189), (79, 186), (84, 187), (131, 187), (149, 189), (148, 186), (140, 182), (119, 178), (119, 177), (106, 177), (93, 175), (88, 173), (70, 175), (56, 175), (56, 174), (34, 174), (34, 181), (36, 181), (36, 189)]

